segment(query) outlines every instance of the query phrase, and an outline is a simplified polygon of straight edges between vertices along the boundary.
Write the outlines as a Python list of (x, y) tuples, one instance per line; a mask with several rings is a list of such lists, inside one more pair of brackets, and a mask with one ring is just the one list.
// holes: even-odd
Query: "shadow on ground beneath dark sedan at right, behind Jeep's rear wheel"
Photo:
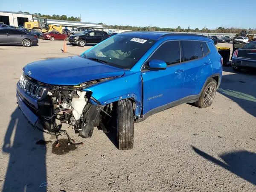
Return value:
[(218, 92), (256, 117), (256, 72), (244, 70), (233, 73), (232, 67), (223, 67), (223, 70), (232, 74), (222, 76)]

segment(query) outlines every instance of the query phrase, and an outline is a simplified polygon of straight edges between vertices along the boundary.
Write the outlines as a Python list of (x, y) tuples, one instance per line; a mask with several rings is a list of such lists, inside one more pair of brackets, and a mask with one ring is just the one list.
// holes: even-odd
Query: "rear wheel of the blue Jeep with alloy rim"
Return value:
[[(217, 90), (217, 82), (214, 79), (210, 79), (207, 82), (207, 85), (204, 87), (204, 90), (202, 91), (198, 101), (194, 103), (195, 106), (198, 108), (207, 108), (211, 106), (214, 100), (214, 97), (216, 95), (216, 90)], [(207, 95), (210, 96), (211, 98), (207, 98)]]

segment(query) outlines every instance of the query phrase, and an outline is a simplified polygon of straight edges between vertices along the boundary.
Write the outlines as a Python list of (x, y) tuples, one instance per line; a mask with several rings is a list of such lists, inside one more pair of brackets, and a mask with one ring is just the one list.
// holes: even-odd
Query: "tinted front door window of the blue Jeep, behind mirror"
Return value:
[(149, 58), (149, 61), (158, 59), (167, 65), (180, 63), (180, 41), (168, 41), (161, 45)]

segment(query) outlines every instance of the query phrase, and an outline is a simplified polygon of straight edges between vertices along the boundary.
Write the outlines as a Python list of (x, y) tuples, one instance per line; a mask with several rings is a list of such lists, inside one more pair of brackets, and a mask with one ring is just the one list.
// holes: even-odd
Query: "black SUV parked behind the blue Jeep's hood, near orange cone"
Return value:
[(70, 35), (68, 41), (73, 45), (84, 47), (85, 44), (98, 44), (109, 37), (105, 31), (84, 31), (79, 35)]

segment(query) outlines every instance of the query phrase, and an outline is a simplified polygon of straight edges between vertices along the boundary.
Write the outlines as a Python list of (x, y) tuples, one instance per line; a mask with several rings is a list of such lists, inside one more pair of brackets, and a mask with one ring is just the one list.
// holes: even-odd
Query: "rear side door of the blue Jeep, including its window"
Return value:
[(212, 65), (207, 56), (209, 47), (206, 42), (201, 44), (201, 41), (183, 40), (181, 44), (186, 67), (183, 96), (197, 96), (206, 79), (212, 75)]

